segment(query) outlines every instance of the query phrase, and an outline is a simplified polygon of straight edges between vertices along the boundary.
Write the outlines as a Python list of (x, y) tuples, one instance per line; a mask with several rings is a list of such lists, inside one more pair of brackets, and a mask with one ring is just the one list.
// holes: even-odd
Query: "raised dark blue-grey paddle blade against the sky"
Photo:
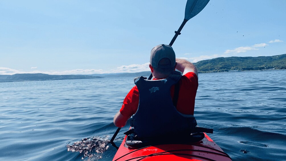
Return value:
[(188, 0), (185, 9), (185, 19), (189, 20), (200, 13), (209, 1), (210, 0)]

